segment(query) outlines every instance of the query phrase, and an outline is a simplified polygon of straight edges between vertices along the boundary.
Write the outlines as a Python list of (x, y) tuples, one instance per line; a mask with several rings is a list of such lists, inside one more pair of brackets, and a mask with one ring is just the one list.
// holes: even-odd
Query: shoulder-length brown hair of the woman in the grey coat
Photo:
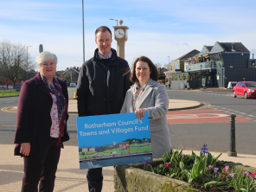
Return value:
[[(146, 62), (148, 63), (149, 67), (150, 67), (150, 78), (152, 80), (155, 80), (157, 81), (158, 80), (158, 72), (157, 72), (157, 67), (153, 64), (152, 61), (150, 61), (150, 59), (148, 57), (145, 57), (145, 56), (141, 56), (139, 58), (137, 58), (134, 63), (133, 63), (133, 66), (132, 66), (132, 72), (131, 72), (131, 75), (130, 75), (130, 80), (131, 82), (135, 83), (135, 82), (138, 82), (138, 78), (136, 77), (136, 64), (138, 61), (143, 61), (143, 62)], [(131, 69), (129, 70), (129, 72), (131, 71)], [(127, 72), (126, 74), (128, 74), (129, 72)]]

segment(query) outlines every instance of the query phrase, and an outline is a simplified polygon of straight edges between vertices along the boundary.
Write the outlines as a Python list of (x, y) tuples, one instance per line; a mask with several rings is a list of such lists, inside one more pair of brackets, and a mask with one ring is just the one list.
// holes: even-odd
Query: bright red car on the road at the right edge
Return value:
[(256, 98), (256, 82), (254, 81), (240, 81), (233, 87), (233, 97), (237, 95), (244, 96), (245, 99)]

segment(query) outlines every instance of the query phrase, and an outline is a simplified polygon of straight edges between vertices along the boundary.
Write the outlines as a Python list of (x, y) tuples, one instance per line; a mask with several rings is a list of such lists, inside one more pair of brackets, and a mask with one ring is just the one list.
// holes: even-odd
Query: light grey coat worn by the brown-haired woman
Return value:
[[(126, 93), (121, 113), (134, 112), (132, 100), (133, 86)], [(165, 87), (150, 79), (135, 108), (144, 108), (149, 113), (153, 158), (162, 157), (166, 150), (170, 151), (171, 147), (170, 131), (165, 116), (169, 108), (169, 98)]]

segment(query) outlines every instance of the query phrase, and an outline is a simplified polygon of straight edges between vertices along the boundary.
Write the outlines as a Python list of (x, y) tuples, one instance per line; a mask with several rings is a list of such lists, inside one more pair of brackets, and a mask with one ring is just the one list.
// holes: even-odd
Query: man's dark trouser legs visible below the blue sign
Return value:
[(90, 192), (100, 192), (102, 189), (102, 168), (88, 169), (87, 182)]

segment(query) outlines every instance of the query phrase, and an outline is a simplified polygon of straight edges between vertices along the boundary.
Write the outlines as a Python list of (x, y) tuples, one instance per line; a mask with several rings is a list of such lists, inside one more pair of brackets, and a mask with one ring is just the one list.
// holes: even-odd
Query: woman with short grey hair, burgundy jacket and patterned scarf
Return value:
[(55, 173), (67, 133), (67, 85), (54, 77), (57, 57), (39, 54), (39, 73), (25, 81), (18, 102), (15, 155), (22, 156), (22, 192), (53, 191)]

